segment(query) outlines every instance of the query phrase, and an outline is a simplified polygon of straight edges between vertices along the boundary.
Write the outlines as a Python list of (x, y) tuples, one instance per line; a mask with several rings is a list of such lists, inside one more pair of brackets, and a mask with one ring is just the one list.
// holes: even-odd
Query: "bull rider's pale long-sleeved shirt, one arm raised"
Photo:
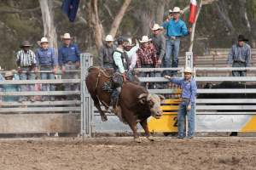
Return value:
[(114, 62), (115, 65), (118, 66), (120, 73), (123, 74), (125, 72), (125, 67), (124, 67), (123, 61), (121, 59), (121, 55), (122, 55), (121, 53), (126, 53), (128, 58), (131, 59), (131, 55), (135, 54), (138, 48), (139, 48), (139, 44), (137, 44), (136, 46), (131, 48), (130, 51), (124, 51), (121, 48), (116, 48), (116, 50), (119, 51), (120, 53), (119, 52), (114, 52), (113, 53), (113, 62)]

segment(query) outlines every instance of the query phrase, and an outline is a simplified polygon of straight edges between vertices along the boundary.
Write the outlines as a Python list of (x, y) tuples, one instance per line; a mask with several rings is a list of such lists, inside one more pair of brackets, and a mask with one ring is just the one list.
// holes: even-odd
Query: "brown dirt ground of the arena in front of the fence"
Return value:
[(256, 169), (256, 138), (0, 140), (0, 169)]

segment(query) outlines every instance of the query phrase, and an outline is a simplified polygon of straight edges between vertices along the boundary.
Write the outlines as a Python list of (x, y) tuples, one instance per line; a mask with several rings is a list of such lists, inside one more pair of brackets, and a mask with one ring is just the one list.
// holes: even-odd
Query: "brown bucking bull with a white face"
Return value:
[[(108, 111), (111, 101), (111, 94), (103, 90), (102, 87), (106, 82), (111, 81), (112, 75), (112, 70), (101, 67), (90, 67), (88, 69), (88, 76), (85, 79), (94, 105), (100, 112), (102, 122), (108, 120), (105, 112)], [(149, 116), (154, 116), (155, 118), (162, 116), (160, 109), (161, 99), (165, 99), (164, 96), (149, 94), (145, 88), (136, 83), (124, 82), (118, 100), (121, 115), (116, 115), (119, 116), (122, 122), (128, 123), (131, 127), (136, 142), (141, 142), (137, 133), (137, 122), (142, 125), (146, 137), (149, 140), (154, 140), (148, 131), (147, 118)], [(105, 106), (106, 111), (102, 111), (100, 103)]]

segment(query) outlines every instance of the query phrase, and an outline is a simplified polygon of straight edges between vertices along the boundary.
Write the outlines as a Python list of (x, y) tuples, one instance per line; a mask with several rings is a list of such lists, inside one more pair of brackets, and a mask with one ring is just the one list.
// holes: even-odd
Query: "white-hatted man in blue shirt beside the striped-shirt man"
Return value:
[[(58, 59), (55, 54), (54, 48), (49, 48), (48, 39), (46, 37), (42, 37), (39, 42), (41, 48), (38, 48), (36, 51), (36, 59), (37, 59), (37, 67), (40, 67), (40, 71), (51, 71), (51, 72), (42, 72), (41, 79), (46, 80), (54, 80), (55, 73), (57, 71)], [(43, 84), (43, 91), (47, 91), (48, 84)], [(49, 84), (49, 90), (55, 91), (55, 85)], [(47, 96), (43, 96), (42, 101), (48, 100)], [(54, 96), (50, 97), (51, 101), (55, 100)]]

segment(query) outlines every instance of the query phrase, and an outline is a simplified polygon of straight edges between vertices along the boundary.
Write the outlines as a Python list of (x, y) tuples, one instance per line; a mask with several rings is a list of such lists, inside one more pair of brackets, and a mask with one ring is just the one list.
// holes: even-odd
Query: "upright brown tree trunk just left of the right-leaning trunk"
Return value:
[(94, 31), (96, 48), (99, 49), (102, 46), (102, 37), (104, 36), (104, 31), (102, 23), (99, 20), (97, 0), (90, 1), (90, 27)]

